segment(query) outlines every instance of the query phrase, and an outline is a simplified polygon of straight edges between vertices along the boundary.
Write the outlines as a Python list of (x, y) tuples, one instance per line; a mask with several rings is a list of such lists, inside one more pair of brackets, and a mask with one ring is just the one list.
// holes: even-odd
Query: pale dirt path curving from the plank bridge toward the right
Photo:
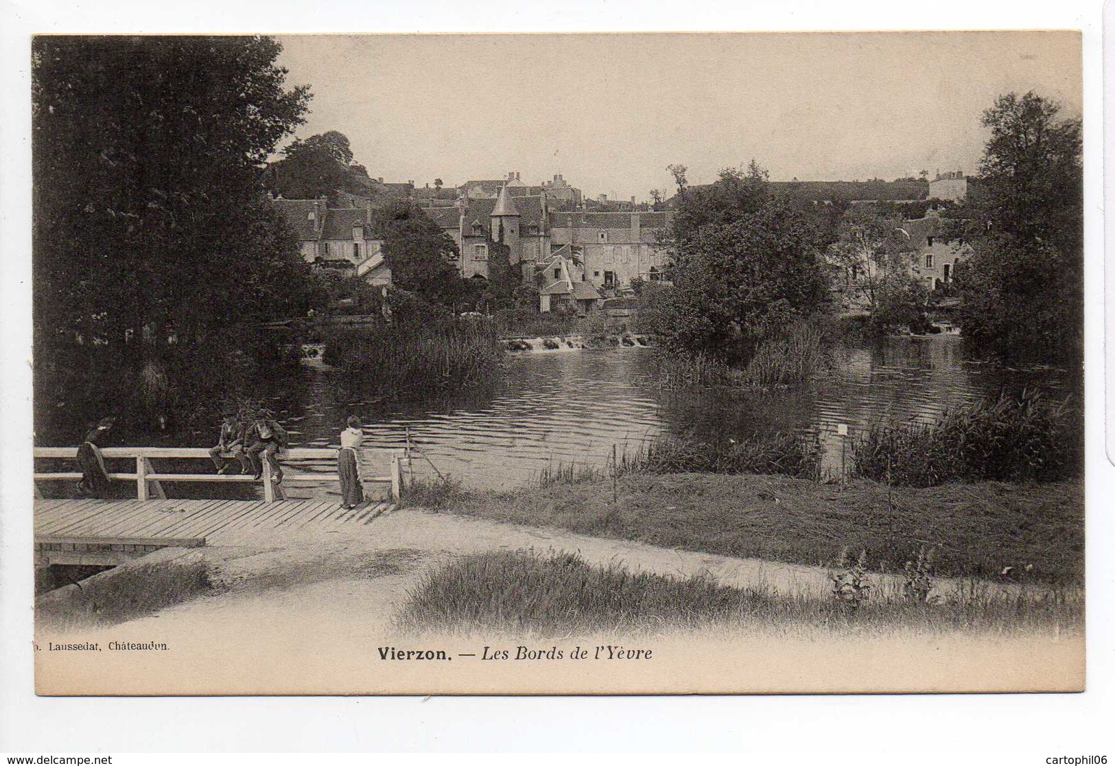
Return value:
[[(327, 533), (243, 533), (221, 545), (155, 554), (157, 559), (205, 559), (221, 592), (127, 626), (129, 631), (157, 626), (161, 632), (177, 632), (191, 626), (221, 624), (245, 634), (266, 626), (274, 634), (295, 636), (307, 624), (338, 624), (340, 620), (338, 628), (351, 640), (370, 639), (390, 624), (407, 592), (432, 569), (454, 556), (530, 549), (578, 553), (592, 564), (619, 563), (639, 572), (679, 578), (707, 574), (723, 584), (780, 593), (824, 598), (831, 588), (827, 571), (818, 566), (676, 551), (407, 508), (367, 526)], [(876, 592), (901, 588), (899, 578), (873, 575), (873, 580)], [(937, 586), (947, 592), (954, 583), (938, 581)], [(54, 598), (64, 593), (56, 592)]]

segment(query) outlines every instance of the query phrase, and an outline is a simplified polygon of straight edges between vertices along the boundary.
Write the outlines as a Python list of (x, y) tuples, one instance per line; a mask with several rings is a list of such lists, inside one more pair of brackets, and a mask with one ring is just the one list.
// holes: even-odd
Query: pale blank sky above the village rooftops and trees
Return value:
[(585, 194), (672, 193), (755, 158), (776, 181), (973, 173), (997, 96), (1078, 117), (1075, 32), (427, 35), (279, 38), (310, 85), (307, 137), (348, 136), (372, 177), (561, 174)]

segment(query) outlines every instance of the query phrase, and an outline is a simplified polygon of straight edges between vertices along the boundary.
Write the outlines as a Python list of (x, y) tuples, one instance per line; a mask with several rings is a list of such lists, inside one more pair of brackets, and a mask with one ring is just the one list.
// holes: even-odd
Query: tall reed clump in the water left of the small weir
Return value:
[(324, 340), (326, 363), (404, 398), (494, 384), (504, 358), (492, 328), (475, 322), (333, 328)]

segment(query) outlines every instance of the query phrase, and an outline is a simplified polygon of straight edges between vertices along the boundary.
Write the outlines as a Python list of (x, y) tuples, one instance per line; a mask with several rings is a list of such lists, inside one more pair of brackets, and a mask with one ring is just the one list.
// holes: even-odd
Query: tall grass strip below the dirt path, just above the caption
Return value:
[(963, 629), (998, 636), (1076, 628), (1076, 594), (991, 594), (968, 590), (917, 601), (880, 592), (862, 603), (806, 598), (765, 586), (729, 588), (707, 576), (592, 566), (569, 553), (500, 551), (430, 572), (408, 594), (398, 624), (409, 631), (570, 636), (708, 627), (764, 632), (886, 633)]

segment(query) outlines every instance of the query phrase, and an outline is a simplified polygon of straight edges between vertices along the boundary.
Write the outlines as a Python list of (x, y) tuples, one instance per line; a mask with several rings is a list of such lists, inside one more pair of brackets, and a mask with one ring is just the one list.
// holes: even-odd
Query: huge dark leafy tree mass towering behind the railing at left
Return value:
[(298, 308), (303, 266), (259, 184), (309, 99), (287, 87), (280, 50), (260, 37), (33, 40), (37, 384), (58, 398), (80, 399), (64, 378), (97, 365), (117, 395), (137, 379), (173, 389), (169, 355)]

